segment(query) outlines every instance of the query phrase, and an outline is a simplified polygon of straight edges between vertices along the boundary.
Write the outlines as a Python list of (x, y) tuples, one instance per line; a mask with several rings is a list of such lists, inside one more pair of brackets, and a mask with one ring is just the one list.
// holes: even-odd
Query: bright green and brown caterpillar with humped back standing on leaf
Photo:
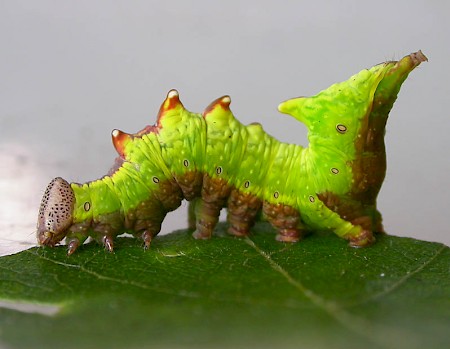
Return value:
[(376, 198), (386, 172), (388, 114), (424, 61), (418, 51), (281, 103), (281, 113), (307, 126), (308, 147), (279, 142), (258, 123), (244, 126), (229, 96), (197, 114), (171, 90), (154, 125), (134, 134), (112, 131), (119, 156), (107, 175), (83, 184), (50, 182), (38, 243), (53, 247), (65, 238), (71, 255), (90, 236), (112, 252), (114, 237), (130, 232), (147, 249), (166, 214), (186, 199), (196, 239), (211, 237), (226, 207), (235, 236), (248, 235), (262, 212), (282, 242), (330, 230), (353, 247), (368, 246), (383, 232)]

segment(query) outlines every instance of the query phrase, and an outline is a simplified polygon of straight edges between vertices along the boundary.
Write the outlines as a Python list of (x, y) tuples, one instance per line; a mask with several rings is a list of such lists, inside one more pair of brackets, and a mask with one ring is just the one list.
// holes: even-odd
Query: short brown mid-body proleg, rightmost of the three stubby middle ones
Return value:
[(276, 239), (281, 242), (297, 242), (302, 237), (300, 213), (292, 206), (263, 203), (263, 212), (268, 221), (277, 229)]

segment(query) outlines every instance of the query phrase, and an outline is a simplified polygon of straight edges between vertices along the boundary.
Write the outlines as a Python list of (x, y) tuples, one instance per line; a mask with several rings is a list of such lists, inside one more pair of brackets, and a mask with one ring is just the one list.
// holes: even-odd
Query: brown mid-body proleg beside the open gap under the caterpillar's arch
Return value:
[(219, 221), (220, 210), (225, 206), (231, 186), (222, 178), (212, 178), (205, 174), (202, 196), (195, 202), (195, 239), (209, 239)]

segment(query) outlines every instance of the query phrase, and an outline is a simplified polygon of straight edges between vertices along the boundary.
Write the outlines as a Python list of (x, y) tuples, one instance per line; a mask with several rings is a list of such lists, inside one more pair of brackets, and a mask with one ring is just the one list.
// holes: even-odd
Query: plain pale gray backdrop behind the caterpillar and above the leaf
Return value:
[(110, 131), (153, 124), (170, 88), (192, 111), (229, 94), (243, 123), (306, 145), (279, 102), (418, 49), (430, 62), (391, 113), (379, 206), (391, 234), (449, 245), (449, 15), (437, 0), (0, 1), (0, 253), (34, 244), (51, 178), (105, 174)]

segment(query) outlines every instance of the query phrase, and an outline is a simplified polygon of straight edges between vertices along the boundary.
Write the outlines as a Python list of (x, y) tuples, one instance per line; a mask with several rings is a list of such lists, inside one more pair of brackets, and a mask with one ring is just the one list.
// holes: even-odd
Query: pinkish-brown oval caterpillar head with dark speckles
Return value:
[(70, 184), (57, 177), (53, 179), (42, 197), (37, 223), (37, 240), (40, 245), (55, 246), (72, 225), (75, 194)]

